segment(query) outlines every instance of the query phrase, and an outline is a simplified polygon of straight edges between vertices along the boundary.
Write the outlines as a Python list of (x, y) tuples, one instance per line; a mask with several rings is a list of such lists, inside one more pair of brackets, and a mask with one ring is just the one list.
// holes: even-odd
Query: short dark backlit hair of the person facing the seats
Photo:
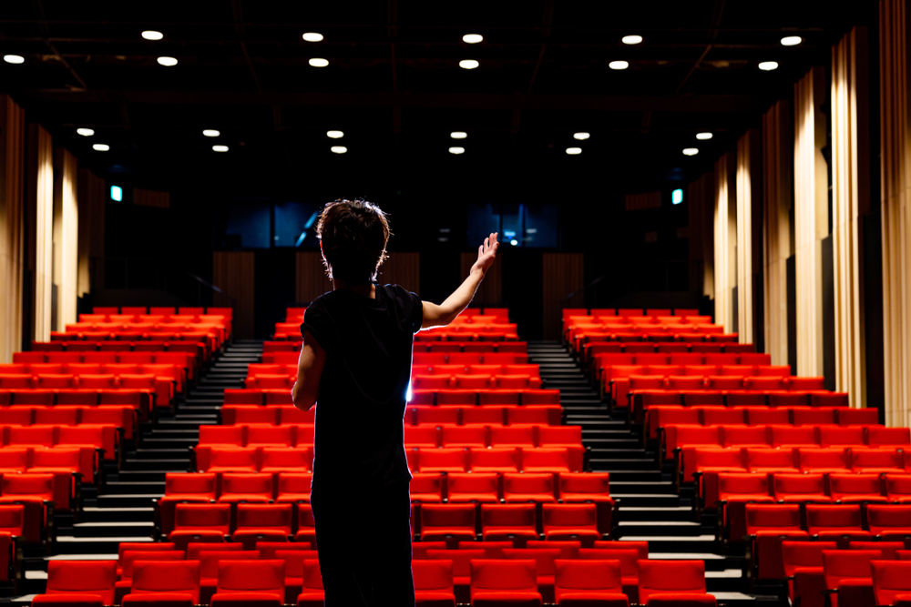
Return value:
[(363, 284), (376, 279), (392, 231), (380, 207), (366, 200), (340, 198), (323, 207), (316, 236), (322, 240), (329, 278)]

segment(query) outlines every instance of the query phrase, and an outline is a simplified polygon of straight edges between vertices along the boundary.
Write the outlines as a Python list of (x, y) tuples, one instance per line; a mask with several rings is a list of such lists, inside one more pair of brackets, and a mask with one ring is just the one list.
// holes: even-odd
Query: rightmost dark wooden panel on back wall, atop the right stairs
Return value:
[[(543, 335), (546, 340), (560, 339), (564, 308), (585, 308), (585, 255), (582, 253), (545, 253), (541, 262)], [(578, 293), (565, 299), (570, 293)]]

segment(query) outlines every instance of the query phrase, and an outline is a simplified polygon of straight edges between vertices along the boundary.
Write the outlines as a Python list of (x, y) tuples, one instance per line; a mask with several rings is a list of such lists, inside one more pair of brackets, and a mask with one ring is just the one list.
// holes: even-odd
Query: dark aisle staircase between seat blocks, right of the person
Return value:
[(616, 539), (648, 541), (652, 559), (705, 561), (707, 589), (720, 604), (779, 601), (777, 589), (751, 590), (743, 552), (725, 554), (713, 517), (695, 520), (692, 490), (676, 491), (670, 465), (660, 466), (654, 446), (643, 445), (640, 425), (628, 424), (626, 409), (609, 410), (568, 347), (529, 342), (528, 362), (539, 365), (544, 388), (560, 390), (565, 422), (582, 427), (591, 471), (610, 474), (610, 494), (619, 501)]

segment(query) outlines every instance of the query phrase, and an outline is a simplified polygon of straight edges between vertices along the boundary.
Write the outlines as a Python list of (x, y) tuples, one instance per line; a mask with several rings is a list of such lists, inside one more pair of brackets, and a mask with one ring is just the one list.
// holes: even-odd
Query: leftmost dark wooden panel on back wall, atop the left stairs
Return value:
[(234, 307), (234, 335), (236, 339), (253, 338), (254, 294), (256, 267), (252, 251), (215, 251), (212, 253), (212, 284), (230, 298), (216, 293), (212, 303), (216, 307)]

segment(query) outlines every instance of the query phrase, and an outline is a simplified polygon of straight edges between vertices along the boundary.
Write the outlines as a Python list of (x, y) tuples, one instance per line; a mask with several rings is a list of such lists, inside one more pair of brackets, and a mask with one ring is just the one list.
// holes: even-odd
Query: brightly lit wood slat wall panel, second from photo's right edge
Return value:
[(864, 300), (859, 216), (869, 208), (866, 32), (855, 27), (832, 48), (832, 212), (835, 388), (866, 407)]

